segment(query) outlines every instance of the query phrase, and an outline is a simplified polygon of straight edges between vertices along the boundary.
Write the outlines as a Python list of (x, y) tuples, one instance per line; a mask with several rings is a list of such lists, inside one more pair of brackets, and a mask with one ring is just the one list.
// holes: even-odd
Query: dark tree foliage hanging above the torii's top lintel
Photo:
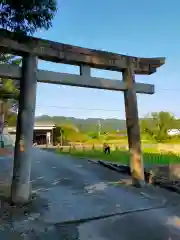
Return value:
[(56, 0), (6, 0), (0, 3), (0, 26), (12, 32), (33, 35), (49, 29), (56, 13)]

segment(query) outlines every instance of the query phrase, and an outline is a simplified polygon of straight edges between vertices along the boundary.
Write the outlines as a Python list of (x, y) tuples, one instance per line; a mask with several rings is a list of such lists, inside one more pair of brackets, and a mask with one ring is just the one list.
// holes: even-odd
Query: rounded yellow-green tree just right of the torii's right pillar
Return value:
[(168, 130), (176, 126), (174, 116), (169, 112), (154, 112), (141, 120), (141, 133), (148, 135), (157, 142), (169, 138)]

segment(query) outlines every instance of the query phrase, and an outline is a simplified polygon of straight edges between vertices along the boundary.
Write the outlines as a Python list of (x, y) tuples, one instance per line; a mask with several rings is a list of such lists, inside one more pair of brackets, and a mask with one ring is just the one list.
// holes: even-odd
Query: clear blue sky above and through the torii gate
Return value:
[[(154, 95), (138, 94), (139, 116), (171, 111), (180, 117), (180, 1), (57, 0), (53, 27), (36, 36), (62, 43), (129, 54), (166, 57), (151, 76), (136, 81), (155, 84)], [(39, 61), (39, 68), (77, 73), (70, 65)], [(121, 79), (121, 73), (93, 70), (93, 76)], [(38, 84), (36, 115), (124, 118), (122, 92)], [(99, 109), (99, 110), (95, 110)]]

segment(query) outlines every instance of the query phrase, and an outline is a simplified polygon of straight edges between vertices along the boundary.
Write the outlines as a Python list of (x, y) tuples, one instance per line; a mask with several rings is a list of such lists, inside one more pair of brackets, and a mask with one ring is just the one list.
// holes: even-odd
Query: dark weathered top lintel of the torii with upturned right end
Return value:
[(136, 74), (149, 75), (165, 64), (164, 57), (140, 58), (82, 48), (35, 37), (22, 37), (0, 29), (0, 51), (17, 55), (33, 53), (42, 60), (98, 69), (123, 71), (132, 64)]

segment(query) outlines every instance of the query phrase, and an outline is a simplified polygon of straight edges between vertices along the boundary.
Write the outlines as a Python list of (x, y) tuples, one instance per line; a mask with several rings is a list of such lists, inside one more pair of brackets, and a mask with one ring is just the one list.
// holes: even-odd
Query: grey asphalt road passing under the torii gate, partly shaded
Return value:
[[(8, 185), (11, 157), (0, 161), (1, 185)], [(35, 207), (23, 216), (2, 216), (0, 239), (180, 239), (180, 196), (117, 183), (126, 177), (84, 159), (33, 148)]]

